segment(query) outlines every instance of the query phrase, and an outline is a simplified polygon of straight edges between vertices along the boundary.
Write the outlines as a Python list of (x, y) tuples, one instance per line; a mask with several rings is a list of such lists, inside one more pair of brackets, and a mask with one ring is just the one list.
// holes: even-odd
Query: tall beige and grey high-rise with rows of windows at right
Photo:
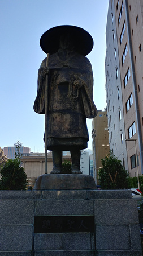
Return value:
[(143, 1), (110, 0), (106, 93), (110, 148), (131, 177), (143, 174)]

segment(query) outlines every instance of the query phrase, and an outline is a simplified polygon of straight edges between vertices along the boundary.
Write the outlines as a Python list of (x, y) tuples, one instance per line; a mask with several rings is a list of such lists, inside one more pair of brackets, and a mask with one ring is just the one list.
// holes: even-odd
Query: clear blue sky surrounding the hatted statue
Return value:
[[(70, 24), (84, 28), (94, 40), (87, 56), (94, 76), (94, 103), (106, 108), (105, 53), (109, 0), (1, 0), (0, 1), (0, 147), (16, 141), (31, 152), (44, 152), (45, 117), (34, 112), (37, 72), (46, 57), (41, 35), (51, 27)], [(87, 119), (92, 149), (92, 119)]]

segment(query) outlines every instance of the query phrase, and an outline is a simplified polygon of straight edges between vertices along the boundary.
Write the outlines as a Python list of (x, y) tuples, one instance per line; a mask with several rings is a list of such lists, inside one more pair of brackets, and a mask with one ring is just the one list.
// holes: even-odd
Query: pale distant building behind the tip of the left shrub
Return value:
[[(15, 152), (16, 147), (4, 147), (4, 155), (6, 155), (9, 159), (15, 158)], [(29, 154), (31, 152), (31, 148), (22, 146), (20, 147), (19, 152), (21, 154)]]

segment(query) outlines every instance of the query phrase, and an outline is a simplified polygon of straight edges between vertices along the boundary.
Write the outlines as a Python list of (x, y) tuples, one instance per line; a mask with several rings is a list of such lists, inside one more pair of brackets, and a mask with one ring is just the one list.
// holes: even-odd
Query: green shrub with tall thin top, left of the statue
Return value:
[(15, 159), (8, 159), (0, 167), (0, 189), (1, 190), (25, 190), (27, 183), (27, 175), (23, 167), (20, 167), (21, 154), (19, 149), (21, 143), (17, 141), (14, 146), (16, 147)]

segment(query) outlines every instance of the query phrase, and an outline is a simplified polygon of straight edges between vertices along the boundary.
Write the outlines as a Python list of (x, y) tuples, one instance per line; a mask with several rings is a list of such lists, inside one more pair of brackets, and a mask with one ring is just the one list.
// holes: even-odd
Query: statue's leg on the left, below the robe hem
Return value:
[(60, 174), (62, 171), (62, 150), (54, 149), (52, 151), (53, 155), (53, 170), (50, 172), (51, 174)]

